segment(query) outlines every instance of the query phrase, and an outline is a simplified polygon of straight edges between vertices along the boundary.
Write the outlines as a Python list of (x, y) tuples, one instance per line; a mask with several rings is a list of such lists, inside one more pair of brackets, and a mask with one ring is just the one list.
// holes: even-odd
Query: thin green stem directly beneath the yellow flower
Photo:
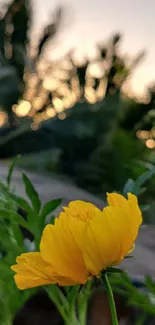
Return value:
[(117, 318), (117, 313), (116, 313), (115, 300), (114, 300), (113, 292), (112, 292), (112, 289), (111, 289), (111, 286), (110, 286), (110, 282), (109, 282), (107, 273), (103, 274), (102, 280), (103, 280), (103, 283), (105, 285), (108, 300), (109, 300), (112, 324), (113, 325), (118, 325), (118, 318)]

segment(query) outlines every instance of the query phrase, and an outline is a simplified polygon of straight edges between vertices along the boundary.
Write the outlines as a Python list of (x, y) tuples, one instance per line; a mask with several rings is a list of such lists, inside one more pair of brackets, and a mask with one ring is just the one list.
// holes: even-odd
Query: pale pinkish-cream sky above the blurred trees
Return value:
[[(31, 0), (35, 9), (34, 34), (50, 19), (57, 5), (66, 6), (59, 53), (69, 48), (92, 50), (95, 42), (106, 41), (115, 32), (124, 35), (123, 53), (147, 50), (145, 61), (132, 78), (132, 89), (143, 93), (155, 81), (155, 0)], [(0, 0), (0, 4), (7, 0)]]

